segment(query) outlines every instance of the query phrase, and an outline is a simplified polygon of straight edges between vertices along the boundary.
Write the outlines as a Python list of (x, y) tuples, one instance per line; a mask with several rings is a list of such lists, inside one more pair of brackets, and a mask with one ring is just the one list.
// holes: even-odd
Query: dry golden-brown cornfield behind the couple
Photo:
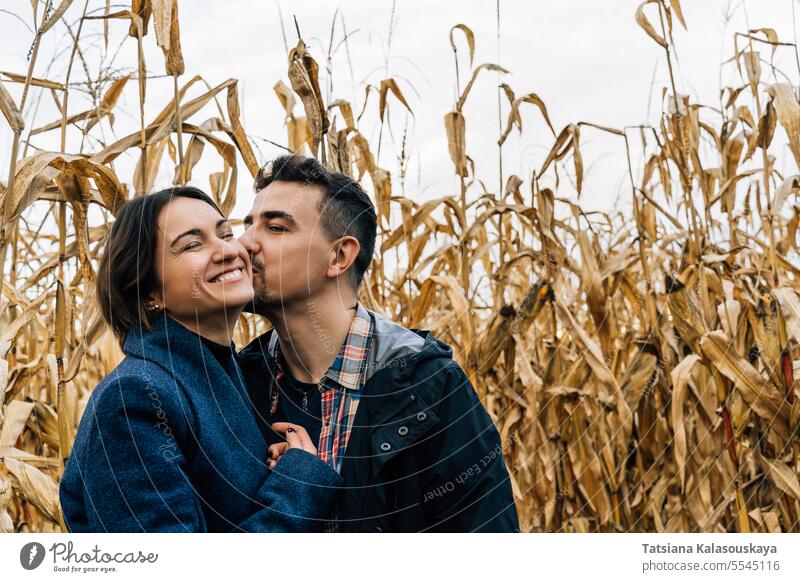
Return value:
[[(230, 212), (237, 195), (251, 195), (250, 176), (238, 171), (252, 176), (265, 161), (240, 120), (236, 79), (182, 79), (177, 0), (133, 0), (116, 12), (106, 3), (99, 13), (86, 0), (68, 22), (72, 4), (33, 2), (29, 68), (0, 72), (13, 133), (0, 183), (3, 532), (64, 529), (64, 462), (92, 388), (121, 359), (93, 296), (114, 213), (172, 166), (175, 184), (207, 185)], [(81, 14), (75, 4), (70, 14)], [(800, 531), (800, 176), (775, 169), (784, 155), (800, 164), (800, 102), (797, 87), (767, 74), (771, 55), (797, 47), (769, 28), (736, 32), (728, 66), (742, 83), (704, 106), (675, 90), (672, 31), (686, 28), (679, 0), (648, 0), (625, 17), (669, 64), (656, 125), (554, 127), (537, 94), (490, 84), (489, 73), (505, 78), (505, 69), (475, 65), (479, 39), (457, 24), (455, 72), (468, 81), (443, 130), (460, 191), (422, 202), (398, 194), (404, 158), (380, 167), (385, 138), (370, 143), (360, 121), (377, 107), (382, 135), (391, 111), (410, 112), (402, 82), (362, 88), (360, 104), (326, 102), (325, 55), (302, 38), (274, 87), (285, 148), (354, 176), (374, 196), (379, 250), (362, 301), (453, 346), (500, 430), (523, 531)], [(81, 35), (102, 26), (108, 43), (119, 20), (122, 50), (135, 51), (138, 68), (92, 72)], [(37, 76), (41, 38), (64, 26), (66, 77)], [(153, 42), (165, 65), (145, 64)], [(174, 95), (146, 118), (149, 75), (162, 66)], [(81, 95), (72, 97), (78, 77)], [(126, 87), (138, 95), (129, 113), (139, 128), (107, 141), (103, 127)], [(477, 179), (466, 143), (464, 104), (478, 87), (498, 91), (508, 112), (501, 159), (523, 111), (552, 132), (536, 171), (501, 170), (496, 191)], [(52, 96), (60, 119), (32, 124), (37, 92)], [(73, 105), (87, 99), (87, 109)], [(81, 136), (72, 153), (68, 131)], [(29, 147), (48, 132), (60, 133), (59, 150)], [(586, 132), (610, 134), (626, 152), (630, 215), (584, 212), (564, 194), (581, 192)], [(138, 160), (129, 175), (115, 169), (123, 154)], [(204, 157), (221, 162), (205, 182), (193, 175)], [(237, 344), (264, 329), (243, 316)]]

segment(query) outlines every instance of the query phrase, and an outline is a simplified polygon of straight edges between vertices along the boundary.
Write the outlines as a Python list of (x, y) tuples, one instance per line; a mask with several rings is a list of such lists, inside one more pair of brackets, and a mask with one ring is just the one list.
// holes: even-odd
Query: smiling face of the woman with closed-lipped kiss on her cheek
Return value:
[(155, 263), (161, 285), (152, 301), (178, 321), (235, 322), (253, 300), (247, 251), (202, 200), (179, 197), (161, 210)]

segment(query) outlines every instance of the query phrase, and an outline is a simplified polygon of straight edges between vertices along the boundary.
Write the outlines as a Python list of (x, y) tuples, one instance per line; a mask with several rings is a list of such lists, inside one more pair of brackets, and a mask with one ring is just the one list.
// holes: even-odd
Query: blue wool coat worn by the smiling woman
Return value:
[(267, 445), (234, 358), (166, 315), (93, 391), (60, 485), (72, 532), (319, 531), (341, 479)]

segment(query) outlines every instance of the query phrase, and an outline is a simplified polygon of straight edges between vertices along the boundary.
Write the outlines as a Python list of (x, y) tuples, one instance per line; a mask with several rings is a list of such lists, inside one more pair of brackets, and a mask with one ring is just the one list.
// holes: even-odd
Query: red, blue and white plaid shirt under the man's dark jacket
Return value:
[[(374, 332), (375, 321), (372, 314), (361, 303), (357, 303), (356, 316), (350, 325), (350, 331), (339, 349), (339, 354), (319, 383), (322, 431), (317, 455), (337, 473), (341, 472), (344, 451), (353, 429)], [(280, 383), (285, 375), (280, 344), (277, 344), (275, 350), (275, 365), (275, 380)], [(276, 390), (273, 396), (271, 414), (275, 414), (278, 409), (278, 393)]]

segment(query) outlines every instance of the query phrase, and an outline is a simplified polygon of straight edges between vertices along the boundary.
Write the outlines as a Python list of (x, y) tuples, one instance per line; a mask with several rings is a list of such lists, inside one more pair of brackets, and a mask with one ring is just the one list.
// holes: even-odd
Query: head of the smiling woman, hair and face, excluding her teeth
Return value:
[(249, 273), (243, 251), (217, 205), (197, 188), (136, 198), (120, 211), (98, 269), (103, 316), (123, 345), (132, 329), (151, 330), (153, 315), (162, 310), (194, 331), (201, 321), (215, 327), (228, 313), (235, 322), (234, 312), (252, 299), (250, 282), (227, 296), (201, 283), (204, 274), (222, 268), (244, 266)]

